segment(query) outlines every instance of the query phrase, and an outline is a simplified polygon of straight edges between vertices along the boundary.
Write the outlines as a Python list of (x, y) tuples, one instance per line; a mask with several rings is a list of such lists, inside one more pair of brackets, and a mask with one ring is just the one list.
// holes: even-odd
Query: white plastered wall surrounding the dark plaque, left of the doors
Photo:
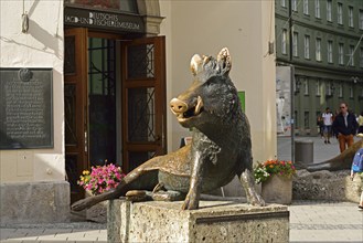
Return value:
[(53, 149), (0, 150), (0, 182), (64, 181), (63, 0), (0, 1), (0, 18), (1, 67), (53, 68), (54, 120)]

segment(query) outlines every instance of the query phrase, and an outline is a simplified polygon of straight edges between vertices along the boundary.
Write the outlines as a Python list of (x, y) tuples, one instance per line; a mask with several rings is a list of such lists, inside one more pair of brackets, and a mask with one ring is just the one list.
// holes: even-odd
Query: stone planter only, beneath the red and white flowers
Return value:
[(290, 204), (292, 178), (271, 176), (263, 182), (261, 196), (267, 203)]

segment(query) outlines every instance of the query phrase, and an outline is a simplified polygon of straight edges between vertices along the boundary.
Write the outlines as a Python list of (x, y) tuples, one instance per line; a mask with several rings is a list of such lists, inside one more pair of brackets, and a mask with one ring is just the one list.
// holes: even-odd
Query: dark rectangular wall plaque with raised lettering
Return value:
[(52, 68), (0, 68), (0, 149), (53, 148)]

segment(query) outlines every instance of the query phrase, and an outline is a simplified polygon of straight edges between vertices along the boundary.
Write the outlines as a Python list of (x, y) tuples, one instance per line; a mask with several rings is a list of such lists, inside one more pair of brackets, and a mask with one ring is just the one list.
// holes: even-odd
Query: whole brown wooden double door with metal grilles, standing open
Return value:
[(65, 166), (72, 201), (83, 170), (128, 172), (167, 152), (164, 38), (65, 30)]

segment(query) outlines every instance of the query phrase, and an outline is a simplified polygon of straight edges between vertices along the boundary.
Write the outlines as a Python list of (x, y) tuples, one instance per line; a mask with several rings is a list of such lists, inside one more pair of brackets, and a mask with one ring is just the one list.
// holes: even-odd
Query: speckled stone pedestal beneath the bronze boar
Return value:
[(109, 201), (108, 242), (288, 242), (286, 205), (250, 207), (231, 201), (201, 201), (199, 210), (182, 202)]

